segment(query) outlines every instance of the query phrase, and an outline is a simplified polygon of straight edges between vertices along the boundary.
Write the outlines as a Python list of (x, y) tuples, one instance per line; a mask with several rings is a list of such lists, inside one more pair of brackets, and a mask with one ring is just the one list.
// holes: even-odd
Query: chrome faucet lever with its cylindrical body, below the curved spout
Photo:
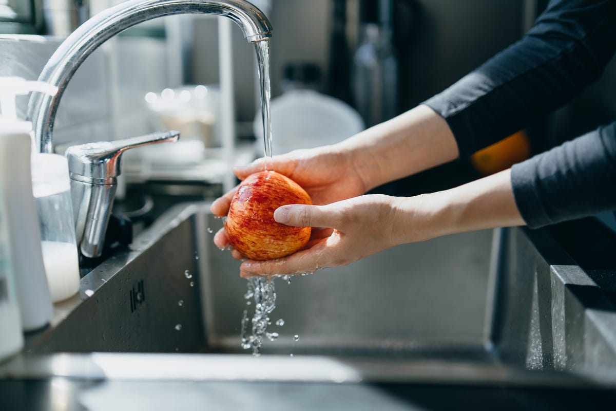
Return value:
[(163, 131), (68, 148), (65, 155), (71, 177), (75, 235), (81, 254), (94, 258), (103, 252), (122, 153), (142, 145), (175, 142), (179, 137), (179, 131)]

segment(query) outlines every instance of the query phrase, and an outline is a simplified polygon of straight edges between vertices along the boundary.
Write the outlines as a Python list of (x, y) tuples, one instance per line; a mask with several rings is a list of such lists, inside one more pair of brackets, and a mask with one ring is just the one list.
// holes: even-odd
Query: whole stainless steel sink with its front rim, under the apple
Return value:
[(169, 210), (83, 277), (0, 377), (616, 385), (614, 312), (585, 309), (572, 286), (591, 280), (551, 264), (539, 234), (454, 235), (276, 279), (270, 317), (285, 325), (256, 358), (240, 347), (246, 280), (213, 244), (221, 226), (208, 203)]

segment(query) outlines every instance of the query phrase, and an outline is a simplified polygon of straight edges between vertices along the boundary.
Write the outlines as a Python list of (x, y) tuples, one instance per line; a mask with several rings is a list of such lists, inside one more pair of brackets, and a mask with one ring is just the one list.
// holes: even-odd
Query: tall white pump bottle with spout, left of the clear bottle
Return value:
[[(32, 124), (18, 120), (15, 108), (15, 97), (31, 91), (54, 95), (57, 87), (19, 77), (0, 77), (0, 186), (24, 331), (44, 327), (53, 314), (32, 189)], [(0, 293), (1, 288), (0, 285)]]

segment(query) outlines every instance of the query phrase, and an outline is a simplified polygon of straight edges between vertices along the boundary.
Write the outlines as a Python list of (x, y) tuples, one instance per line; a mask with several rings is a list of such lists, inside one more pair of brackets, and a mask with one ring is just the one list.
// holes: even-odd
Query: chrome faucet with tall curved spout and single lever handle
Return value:
[[(138, 23), (166, 15), (191, 13), (229, 17), (240, 26), (251, 43), (269, 39), (272, 31), (269, 20), (261, 10), (245, 0), (127, 0), (103, 10), (73, 31), (41, 71), (39, 81), (58, 87), (55, 96), (33, 92), (28, 104), (28, 118), (33, 123), (34, 136), (41, 152), (54, 152), (52, 131), (60, 98), (88, 55), (111, 37)], [(177, 140), (177, 137), (177, 132), (168, 132), (160, 136), (121, 140), (116, 142), (115, 147), (108, 146), (114, 142), (101, 142), (67, 151), (67, 155), (73, 156), (73, 160), (69, 157), (71, 197), (81, 253), (88, 257), (97, 257), (102, 253), (113, 205), (115, 176), (120, 173), (121, 153), (131, 147)], [(106, 160), (102, 161), (103, 158)], [(107, 163), (110, 159), (117, 160), (114, 160), (113, 166)], [(103, 170), (107, 176), (101, 174)]]

